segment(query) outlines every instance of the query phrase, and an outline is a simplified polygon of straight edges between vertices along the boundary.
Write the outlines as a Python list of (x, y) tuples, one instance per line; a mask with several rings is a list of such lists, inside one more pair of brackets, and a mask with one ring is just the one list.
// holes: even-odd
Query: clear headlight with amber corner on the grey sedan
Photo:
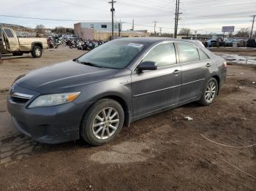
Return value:
[(66, 104), (74, 101), (78, 98), (78, 95), (80, 95), (80, 92), (40, 95), (29, 105), (29, 108)]

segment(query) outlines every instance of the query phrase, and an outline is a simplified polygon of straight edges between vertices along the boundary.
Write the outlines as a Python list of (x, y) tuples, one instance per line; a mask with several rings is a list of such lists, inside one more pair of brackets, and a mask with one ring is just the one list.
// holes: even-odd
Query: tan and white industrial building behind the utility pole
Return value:
[[(75, 23), (74, 33), (86, 40), (110, 40), (112, 23)], [(122, 23), (114, 23), (114, 37), (145, 37), (149, 36), (148, 31), (122, 31)]]

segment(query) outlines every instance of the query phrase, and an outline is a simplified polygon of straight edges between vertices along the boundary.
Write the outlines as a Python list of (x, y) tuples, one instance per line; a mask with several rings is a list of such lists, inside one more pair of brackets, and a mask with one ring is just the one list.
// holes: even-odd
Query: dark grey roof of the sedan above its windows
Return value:
[(188, 40), (188, 39), (173, 39), (169, 37), (132, 37), (132, 38), (121, 38), (116, 39), (118, 41), (128, 41), (128, 42), (146, 42), (150, 44), (154, 44), (157, 42), (164, 42), (164, 41), (172, 41), (172, 42), (190, 42), (195, 44), (195, 40)]

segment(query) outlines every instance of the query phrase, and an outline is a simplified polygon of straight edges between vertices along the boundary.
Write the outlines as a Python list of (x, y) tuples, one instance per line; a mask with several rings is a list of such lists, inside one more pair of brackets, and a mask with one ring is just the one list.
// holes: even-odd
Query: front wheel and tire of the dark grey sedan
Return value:
[[(106, 117), (104, 117), (104, 111)], [(102, 99), (91, 106), (84, 115), (80, 125), (80, 136), (87, 143), (99, 146), (115, 139), (123, 125), (122, 106), (113, 99)]]

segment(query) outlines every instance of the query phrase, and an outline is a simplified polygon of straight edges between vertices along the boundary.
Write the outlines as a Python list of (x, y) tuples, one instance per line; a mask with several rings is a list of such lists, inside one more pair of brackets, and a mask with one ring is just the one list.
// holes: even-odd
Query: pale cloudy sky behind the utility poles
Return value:
[[(110, 0), (109, 0), (110, 1)], [(235, 31), (252, 27), (256, 15), (256, 0), (180, 0), (180, 28), (192, 33), (222, 33), (222, 26), (235, 26)], [(73, 28), (80, 21), (111, 21), (107, 0), (0, 0), (0, 23), (12, 23), (34, 28), (42, 24), (47, 28), (64, 26)], [(173, 33), (176, 0), (116, 0), (115, 21), (123, 22), (123, 30), (146, 29)], [(7, 17), (15, 16), (15, 17)], [(18, 18), (18, 17), (33, 17)], [(46, 20), (49, 19), (49, 20)], [(256, 29), (256, 26), (255, 26)]]

